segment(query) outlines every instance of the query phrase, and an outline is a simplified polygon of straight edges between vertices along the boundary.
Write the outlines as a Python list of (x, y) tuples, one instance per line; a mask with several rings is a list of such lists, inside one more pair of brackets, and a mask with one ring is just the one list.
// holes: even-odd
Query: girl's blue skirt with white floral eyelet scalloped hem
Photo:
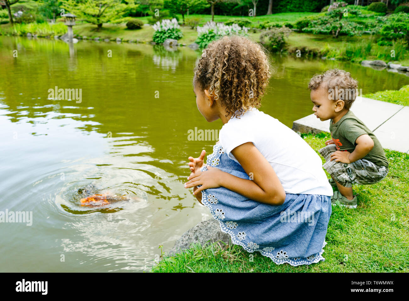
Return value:
[[(221, 144), (213, 146), (206, 165), (249, 179)], [(275, 206), (218, 187), (202, 191), (202, 204), (220, 222), (221, 230), (231, 236), (232, 243), (247, 252), (257, 251), (276, 264), (293, 266), (325, 260), (322, 253), (332, 212), (330, 196), (287, 193), (285, 202)]]

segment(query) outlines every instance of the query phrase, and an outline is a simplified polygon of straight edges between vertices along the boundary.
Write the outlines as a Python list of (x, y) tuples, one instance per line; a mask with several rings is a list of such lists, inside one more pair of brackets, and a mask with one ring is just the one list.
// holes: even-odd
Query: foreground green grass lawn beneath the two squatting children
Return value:
[[(315, 151), (330, 139), (329, 133), (303, 137)], [(385, 152), (387, 177), (377, 184), (353, 186), (357, 209), (333, 207), (324, 262), (276, 265), (238, 245), (196, 245), (173, 257), (164, 256), (152, 272), (409, 272), (409, 155)]]

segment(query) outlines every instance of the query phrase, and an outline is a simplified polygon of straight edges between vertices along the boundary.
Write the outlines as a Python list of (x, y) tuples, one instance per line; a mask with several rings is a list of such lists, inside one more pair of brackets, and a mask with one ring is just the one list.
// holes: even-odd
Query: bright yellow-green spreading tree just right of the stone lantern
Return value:
[(62, 0), (61, 7), (79, 18), (97, 25), (99, 30), (104, 22), (121, 18), (124, 13), (136, 6), (131, 3), (121, 3), (121, 0), (84, 0), (83, 2)]

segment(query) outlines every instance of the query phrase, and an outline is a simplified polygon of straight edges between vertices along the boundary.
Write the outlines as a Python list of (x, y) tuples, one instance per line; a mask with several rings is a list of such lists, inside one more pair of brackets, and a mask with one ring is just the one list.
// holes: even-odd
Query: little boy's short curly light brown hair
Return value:
[[(315, 74), (312, 77), (308, 83), (308, 89), (317, 90), (319, 88), (326, 89), (328, 94), (330, 94), (330, 89), (333, 89), (332, 91), (336, 89), (341, 91), (340, 89), (344, 89), (344, 94), (341, 94), (341, 96), (344, 95), (344, 97), (340, 99), (344, 101), (344, 107), (349, 110), (356, 98), (355, 91), (358, 88), (358, 81), (352, 78), (351, 73), (335, 68), (320, 74)], [(333, 100), (337, 100), (336, 95)]]

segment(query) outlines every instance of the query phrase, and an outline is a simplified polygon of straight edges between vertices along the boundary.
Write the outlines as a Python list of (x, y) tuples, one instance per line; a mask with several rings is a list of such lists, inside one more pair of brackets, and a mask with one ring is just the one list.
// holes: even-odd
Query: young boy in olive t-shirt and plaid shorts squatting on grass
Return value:
[(388, 173), (388, 160), (379, 140), (351, 110), (358, 82), (344, 70), (328, 70), (310, 80), (312, 110), (321, 121), (330, 119), (332, 139), (319, 153), (331, 175), (334, 192), (331, 203), (357, 207), (352, 184), (374, 184)]

